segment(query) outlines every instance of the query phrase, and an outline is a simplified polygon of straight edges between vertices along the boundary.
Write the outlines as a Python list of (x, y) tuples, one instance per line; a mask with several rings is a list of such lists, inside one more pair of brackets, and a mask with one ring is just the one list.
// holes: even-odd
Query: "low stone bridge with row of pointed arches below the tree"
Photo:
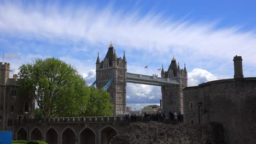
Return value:
[[(141, 116), (136, 121), (126, 117), (69, 117), (47, 119), (20, 119), (14, 123), (14, 140), (43, 140), (49, 144), (109, 143), (132, 122), (144, 121)], [(161, 122), (177, 124), (168, 117)]]

